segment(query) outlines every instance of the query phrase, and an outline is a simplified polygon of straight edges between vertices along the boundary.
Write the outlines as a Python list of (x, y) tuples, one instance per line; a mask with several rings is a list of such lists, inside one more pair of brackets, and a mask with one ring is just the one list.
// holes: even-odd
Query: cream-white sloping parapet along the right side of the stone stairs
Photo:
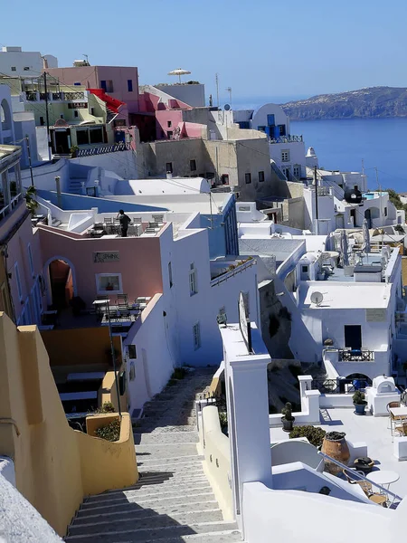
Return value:
[(223, 517), (232, 519), (231, 449), (229, 438), (221, 430), (218, 408), (215, 405), (204, 405), (199, 413), (198, 421), (199, 447), (205, 457), (204, 471), (211, 482)]

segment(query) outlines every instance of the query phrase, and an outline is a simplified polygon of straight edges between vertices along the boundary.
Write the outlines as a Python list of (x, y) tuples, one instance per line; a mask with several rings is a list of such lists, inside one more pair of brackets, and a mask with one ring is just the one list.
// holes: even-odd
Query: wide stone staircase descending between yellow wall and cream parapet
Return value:
[(69, 543), (229, 543), (241, 541), (222, 511), (196, 449), (194, 399), (214, 368), (199, 368), (145, 405), (135, 424), (140, 478), (133, 487), (90, 496), (73, 519)]

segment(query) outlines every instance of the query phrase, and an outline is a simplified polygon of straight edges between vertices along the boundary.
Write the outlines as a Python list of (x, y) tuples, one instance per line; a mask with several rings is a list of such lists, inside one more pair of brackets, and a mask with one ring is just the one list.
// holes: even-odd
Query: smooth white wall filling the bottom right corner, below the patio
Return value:
[(243, 485), (244, 537), (249, 543), (402, 541), (407, 503), (397, 510), (305, 491), (273, 491), (260, 482)]

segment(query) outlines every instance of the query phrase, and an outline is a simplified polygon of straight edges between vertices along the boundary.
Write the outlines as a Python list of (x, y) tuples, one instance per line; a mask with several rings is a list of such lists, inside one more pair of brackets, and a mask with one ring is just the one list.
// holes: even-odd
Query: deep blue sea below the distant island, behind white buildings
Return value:
[(369, 189), (377, 167), (382, 188), (407, 192), (407, 119), (291, 121), (290, 132), (315, 148), (320, 167), (361, 171), (364, 159)]

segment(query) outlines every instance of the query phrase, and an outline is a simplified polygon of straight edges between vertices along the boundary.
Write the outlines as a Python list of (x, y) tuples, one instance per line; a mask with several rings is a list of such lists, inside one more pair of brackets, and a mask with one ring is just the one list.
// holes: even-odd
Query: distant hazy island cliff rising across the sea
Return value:
[(372, 87), (281, 104), (291, 120), (407, 117), (407, 88)]

